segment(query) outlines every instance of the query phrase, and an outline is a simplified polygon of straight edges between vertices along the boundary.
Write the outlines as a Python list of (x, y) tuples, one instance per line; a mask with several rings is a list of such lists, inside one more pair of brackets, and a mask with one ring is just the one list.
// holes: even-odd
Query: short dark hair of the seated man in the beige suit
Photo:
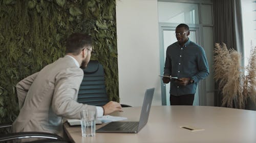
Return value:
[(69, 36), (66, 43), (66, 53), (78, 55), (84, 46), (92, 46), (92, 38), (88, 34), (74, 33)]

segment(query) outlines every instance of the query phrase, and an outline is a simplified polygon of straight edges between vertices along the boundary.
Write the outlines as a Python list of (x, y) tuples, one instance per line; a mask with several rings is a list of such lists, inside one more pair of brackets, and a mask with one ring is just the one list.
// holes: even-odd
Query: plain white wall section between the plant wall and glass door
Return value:
[(161, 105), (157, 0), (117, 0), (120, 103), (142, 106), (147, 88), (156, 88), (152, 105)]

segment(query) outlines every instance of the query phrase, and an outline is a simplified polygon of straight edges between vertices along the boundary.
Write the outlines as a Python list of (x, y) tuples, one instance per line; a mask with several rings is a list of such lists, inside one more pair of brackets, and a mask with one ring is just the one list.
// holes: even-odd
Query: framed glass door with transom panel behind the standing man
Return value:
[[(200, 80), (194, 105), (214, 105), (214, 78), (212, 74), (214, 48), (212, 1), (158, 0), (158, 22), (160, 43), (160, 73), (163, 73), (166, 48), (177, 41), (174, 33), (180, 23), (190, 28), (189, 38), (205, 49), (210, 74)], [(162, 105), (169, 105), (169, 84), (161, 82)]]

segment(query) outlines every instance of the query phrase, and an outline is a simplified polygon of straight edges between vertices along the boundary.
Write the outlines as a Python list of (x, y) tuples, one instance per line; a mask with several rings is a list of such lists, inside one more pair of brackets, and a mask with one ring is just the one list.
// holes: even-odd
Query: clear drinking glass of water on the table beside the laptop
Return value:
[(87, 109), (80, 112), (82, 136), (95, 136), (96, 110)]

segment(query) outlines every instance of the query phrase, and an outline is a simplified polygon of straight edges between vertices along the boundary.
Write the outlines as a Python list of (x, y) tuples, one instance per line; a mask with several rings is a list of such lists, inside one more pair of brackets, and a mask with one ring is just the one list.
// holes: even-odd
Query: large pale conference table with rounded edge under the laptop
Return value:
[[(114, 116), (139, 121), (141, 107), (125, 107)], [(97, 125), (96, 129), (103, 126)], [(192, 132), (180, 126), (203, 128)], [(96, 133), (82, 137), (81, 128), (64, 124), (69, 138), (80, 142), (256, 142), (256, 111), (212, 106), (152, 106), (147, 124), (137, 133)]]

